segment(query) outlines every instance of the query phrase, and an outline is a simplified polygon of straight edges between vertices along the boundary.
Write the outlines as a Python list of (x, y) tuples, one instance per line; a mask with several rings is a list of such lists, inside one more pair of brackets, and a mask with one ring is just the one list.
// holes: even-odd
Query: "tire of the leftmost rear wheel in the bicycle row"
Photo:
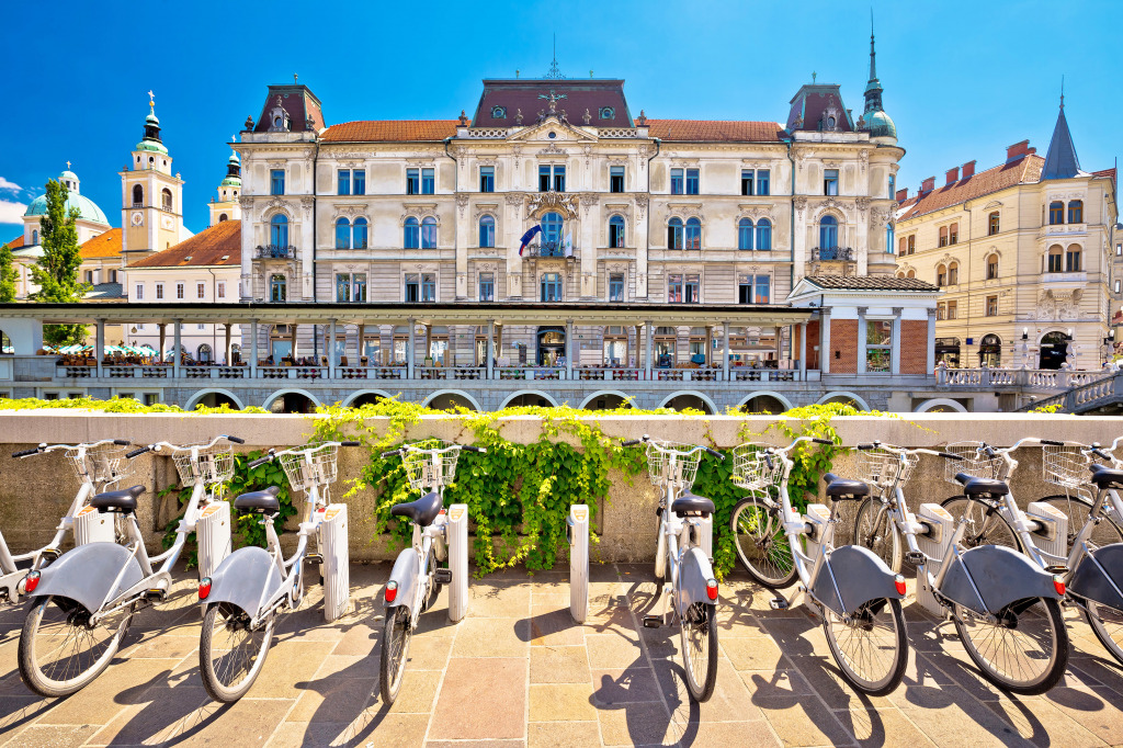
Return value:
[[(54, 623), (55, 611), (58, 614), (57, 624)], [(109, 636), (106, 638), (103, 646), (99, 647), (100, 651), (91, 647), (91, 653), (97, 651), (97, 654), (83, 657), (84, 653), (79, 653), (77, 647), (83, 641), (91, 640), (91, 629), (83, 623), (83, 619), (89, 618), (90, 611), (81, 603), (69, 598), (47, 595), (38, 602), (33, 602), (31, 608), (28, 610), (27, 619), (24, 621), (24, 628), (19, 633), (17, 658), (19, 675), (24, 678), (24, 683), (40, 696), (58, 699), (77, 693), (109, 667), (109, 663), (112, 662), (118, 648), (120, 648), (121, 640), (128, 631), (135, 612), (136, 603), (122, 609), (116, 619), (113, 619), (117, 621), (117, 626), (104, 627)], [(48, 613), (52, 614), (49, 622), (44, 624), (44, 618)], [(72, 677), (52, 677), (52, 673), (56, 668), (49, 667), (45, 669), (45, 665), (38, 662), (36, 656), (39, 650), (38, 635), (44, 631), (45, 627), (57, 627), (58, 636), (45, 633), (45, 637), (51, 638), (52, 644), (49, 647), (44, 647), (44, 649), (49, 653), (69, 654), (70, 657), (66, 664), (61, 667), (61, 671), (64, 674), (70, 674), (77, 667), (77, 673)], [(61, 642), (58, 641), (60, 638), (62, 639)], [(73, 646), (66, 644), (71, 640), (74, 641)], [(47, 642), (45, 641), (44, 644)]]

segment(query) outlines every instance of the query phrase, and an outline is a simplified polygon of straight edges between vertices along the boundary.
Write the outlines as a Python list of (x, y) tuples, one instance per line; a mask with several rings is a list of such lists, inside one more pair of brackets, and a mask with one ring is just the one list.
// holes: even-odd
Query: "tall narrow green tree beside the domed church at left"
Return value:
[[(82, 301), (89, 285), (77, 280), (82, 256), (77, 248), (77, 228), (74, 221), (79, 210), (66, 212), (69, 190), (58, 182), (47, 182), (47, 212), (39, 221), (39, 241), (43, 256), (31, 265), (31, 280), (39, 286), (35, 301), (44, 303), (75, 303)], [(56, 346), (85, 341), (82, 325), (47, 325), (43, 339)], [(100, 355), (100, 352), (99, 352)]]

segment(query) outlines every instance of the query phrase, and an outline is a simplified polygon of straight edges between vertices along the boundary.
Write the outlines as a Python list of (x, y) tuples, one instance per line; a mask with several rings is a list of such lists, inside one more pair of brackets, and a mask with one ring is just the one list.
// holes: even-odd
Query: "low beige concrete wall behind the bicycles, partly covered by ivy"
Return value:
[[(243, 450), (303, 444), (312, 434), (311, 417), (302, 416), (190, 416), (153, 413), (128, 416), (117, 413), (88, 413), (75, 411), (19, 411), (0, 416), (0, 530), (13, 553), (24, 553), (49, 541), (58, 518), (66, 511), (77, 490), (69, 463), (60, 454), (27, 459), (12, 459), (8, 455), (38, 443), (74, 443), (102, 438), (127, 438), (135, 444), (167, 440), (175, 444), (208, 440), (220, 432), (246, 439)], [(783, 444), (776, 429), (766, 429), (776, 419), (772, 417), (685, 418), (612, 417), (592, 419), (614, 437), (633, 438), (643, 434), (672, 438), (676, 441), (711, 444), (722, 448), (741, 441), (739, 432), (760, 434), (754, 440)], [(843, 444), (855, 445), (873, 439), (915, 447), (938, 447), (948, 443), (983, 439), (990, 444), (1006, 445), (1025, 436), (1044, 436), (1051, 439), (1071, 439), (1084, 443), (1110, 444), (1123, 432), (1123, 419), (1110, 417), (1023, 416), (1013, 413), (911, 413), (901, 418), (852, 417), (834, 420)], [(536, 418), (509, 418), (500, 422), (501, 434), (517, 443), (538, 438), (541, 423)], [(426, 417), (411, 428), (408, 438), (427, 436), (446, 439), (463, 438), (464, 430), (455, 419)], [(1041, 481), (1041, 450), (1028, 448), (1019, 455), (1021, 466), (1015, 474), (1013, 489), (1021, 504), (1044, 495), (1062, 492)], [(367, 455), (362, 449), (341, 450), (340, 481), (336, 494), (346, 492), (346, 482), (358, 475)], [(836, 460), (836, 468), (848, 472), (849, 457)], [(905, 490), (910, 503), (939, 502), (956, 494), (955, 487), (943, 480), (944, 460), (923, 457)], [(610, 500), (602, 504), (599, 520), (602, 542), (594, 550), (606, 560), (649, 560), (655, 548), (656, 494), (643, 475), (636, 476), (632, 485), (626, 476), (613, 476)], [(149, 487), (140, 500), (139, 520), (152, 550), (158, 548), (166, 523), (175, 517), (174, 498), (157, 501), (155, 492), (175, 483), (175, 469), (167, 457), (152, 454), (136, 460), (131, 482)], [(154, 491), (155, 490), (155, 491)], [(577, 498), (575, 498), (576, 501)], [(392, 558), (394, 549), (387, 548), (383, 537), (373, 535), (371, 520), (375, 494), (371, 490), (348, 499), (350, 508), (351, 558)], [(849, 537), (850, 524), (839, 528)], [(291, 539), (292, 536), (286, 536)]]

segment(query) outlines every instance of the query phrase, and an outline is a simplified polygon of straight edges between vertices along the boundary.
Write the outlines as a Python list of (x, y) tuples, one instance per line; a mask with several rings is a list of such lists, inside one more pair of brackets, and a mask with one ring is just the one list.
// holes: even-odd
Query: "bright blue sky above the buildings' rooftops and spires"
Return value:
[[(1113, 165), (1123, 98), (1114, 49), (1123, 3), (874, 0), (885, 108), (907, 149), (898, 186), (964, 162), (978, 168), (1023, 138), (1044, 153), (1060, 79), (1081, 166)], [(257, 15), (243, 12), (256, 9)], [(308, 9), (314, 9), (309, 15)], [(866, 3), (493, 2), (13, 3), (0, 28), (0, 225), (73, 162), (90, 197), (120, 225), (117, 171), (140, 139), (156, 93), (186, 224), (229, 157), (226, 143), (261, 112), (265, 86), (299, 73), (329, 124), (451, 119), (481, 79), (545, 73), (557, 33), (563, 73), (622, 77), (633, 115), (783, 121), (812, 71), (859, 112), (868, 76)], [(16, 226), (0, 226), (0, 240)]]

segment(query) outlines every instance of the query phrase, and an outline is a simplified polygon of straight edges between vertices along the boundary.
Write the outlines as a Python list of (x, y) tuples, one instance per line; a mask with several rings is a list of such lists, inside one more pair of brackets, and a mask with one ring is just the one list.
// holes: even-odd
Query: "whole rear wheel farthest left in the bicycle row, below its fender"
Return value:
[(81, 603), (46, 596), (31, 603), (19, 635), (19, 675), (40, 696), (76, 693), (101, 675), (117, 654), (136, 603), (98, 622)]

